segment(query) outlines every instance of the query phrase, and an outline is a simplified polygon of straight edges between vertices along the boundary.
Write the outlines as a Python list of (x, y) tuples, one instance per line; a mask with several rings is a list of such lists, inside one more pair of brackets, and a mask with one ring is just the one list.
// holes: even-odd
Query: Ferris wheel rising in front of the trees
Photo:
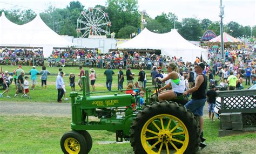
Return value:
[(106, 12), (99, 8), (83, 10), (77, 19), (79, 37), (110, 35), (111, 22)]

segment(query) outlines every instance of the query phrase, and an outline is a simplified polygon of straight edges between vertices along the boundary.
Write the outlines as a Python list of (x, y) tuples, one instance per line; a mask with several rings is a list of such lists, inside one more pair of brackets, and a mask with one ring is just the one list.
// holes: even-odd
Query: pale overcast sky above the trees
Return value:
[[(72, 0), (0, 0), (0, 9), (11, 9), (15, 7), (14, 5), (18, 5), (18, 8), (24, 6), (38, 13), (47, 9), (49, 4), (57, 8), (65, 8), (70, 1)], [(80, 0), (80, 2), (88, 8), (97, 4), (105, 5), (106, 0)], [(172, 12), (178, 16), (179, 21), (189, 17), (220, 20), (220, 0), (138, 0), (138, 2), (139, 10), (146, 10), (152, 18), (162, 12)], [(244, 26), (256, 25), (255, 0), (223, 0), (223, 5), (225, 6), (224, 24), (234, 21)]]

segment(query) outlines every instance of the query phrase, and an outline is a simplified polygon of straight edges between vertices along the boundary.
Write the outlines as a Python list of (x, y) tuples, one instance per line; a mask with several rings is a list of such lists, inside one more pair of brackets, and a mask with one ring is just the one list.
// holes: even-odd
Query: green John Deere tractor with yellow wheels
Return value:
[[(82, 81), (83, 95), (70, 93), (72, 131), (60, 140), (64, 153), (89, 153), (92, 137), (87, 130), (115, 132), (116, 141), (130, 141), (134, 153), (194, 153), (199, 146), (205, 146), (200, 144), (197, 118), (183, 105), (174, 101), (150, 102), (150, 90), (144, 88), (145, 106), (138, 103), (134, 109), (131, 106), (136, 104), (138, 96), (90, 96), (85, 92), (89, 79), (83, 76)], [(89, 121), (89, 116), (96, 116), (100, 121)]]

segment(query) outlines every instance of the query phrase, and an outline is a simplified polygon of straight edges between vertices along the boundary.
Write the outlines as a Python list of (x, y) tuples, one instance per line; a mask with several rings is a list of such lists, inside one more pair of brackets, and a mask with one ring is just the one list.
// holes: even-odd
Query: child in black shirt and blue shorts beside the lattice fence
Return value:
[(212, 85), (211, 90), (208, 90), (206, 93), (207, 102), (209, 104), (208, 112), (209, 112), (210, 121), (213, 121), (214, 107), (215, 107), (216, 97), (218, 96), (218, 94), (215, 92), (215, 90), (216, 90), (216, 87), (214, 85)]

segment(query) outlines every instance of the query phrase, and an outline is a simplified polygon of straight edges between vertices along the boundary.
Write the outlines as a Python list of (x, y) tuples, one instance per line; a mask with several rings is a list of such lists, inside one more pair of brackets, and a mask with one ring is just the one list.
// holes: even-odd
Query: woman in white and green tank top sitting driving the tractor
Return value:
[(183, 95), (185, 89), (185, 81), (183, 78), (181, 78), (179, 67), (174, 62), (169, 63), (167, 66), (167, 72), (169, 72), (169, 74), (165, 78), (157, 78), (157, 80), (165, 82), (166, 80), (171, 79), (171, 81), (168, 85), (160, 88), (159, 91), (164, 90), (170, 86), (172, 87), (172, 90), (161, 92), (158, 95), (158, 101), (173, 100), (174, 98)]

